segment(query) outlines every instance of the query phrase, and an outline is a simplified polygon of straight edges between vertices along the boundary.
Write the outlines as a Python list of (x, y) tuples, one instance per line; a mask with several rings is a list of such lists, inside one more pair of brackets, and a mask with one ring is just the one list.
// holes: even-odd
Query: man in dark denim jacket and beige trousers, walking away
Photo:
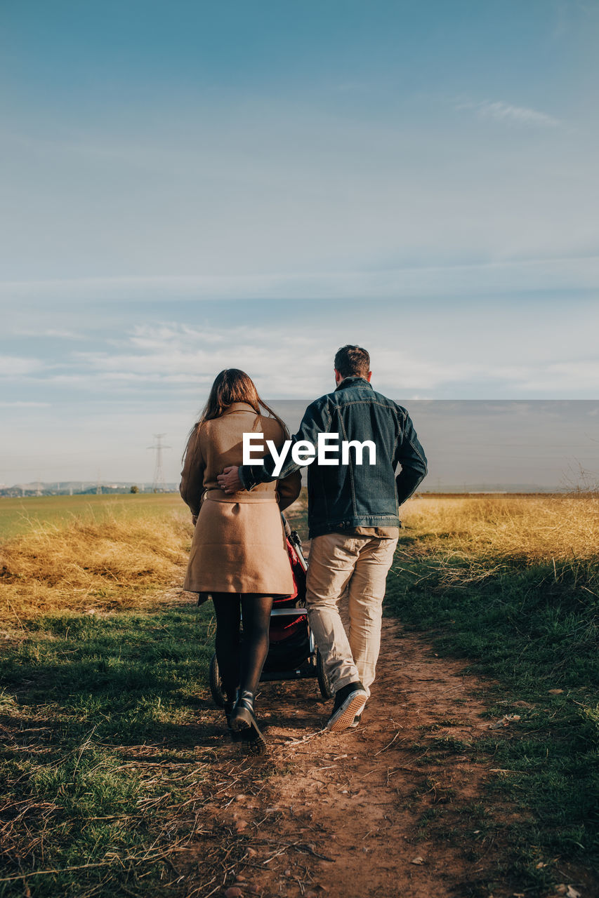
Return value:
[[(348, 443), (364, 444), (362, 448), (348, 446), (345, 463), (331, 459), (329, 444), (328, 456), (308, 467), (312, 544), (306, 605), (335, 692), (326, 726), (338, 731), (358, 725), (370, 696), (380, 651), (385, 583), (399, 537), (398, 506), (425, 477), (426, 458), (407, 410), (372, 389), (370, 356), (365, 349), (339, 349), (335, 383), (334, 392), (308, 406), (291, 445), (305, 442), (316, 446), (318, 434), (336, 434)], [(367, 441), (374, 444), (375, 463), (364, 463), (372, 449)], [(305, 445), (301, 451), (305, 453)], [(299, 459), (300, 453), (295, 455)], [(401, 471), (396, 478), (398, 464)], [(288, 453), (282, 467), (278, 465), (277, 477), (287, 477), (300, 466)], [(269, 456), (257, 464), (225, 468), (219, 485), (227, 493), (253, 489), (273, 480), (274, 469), (275, 461)], [(349, 637), (338, 608), (346, 589)]]

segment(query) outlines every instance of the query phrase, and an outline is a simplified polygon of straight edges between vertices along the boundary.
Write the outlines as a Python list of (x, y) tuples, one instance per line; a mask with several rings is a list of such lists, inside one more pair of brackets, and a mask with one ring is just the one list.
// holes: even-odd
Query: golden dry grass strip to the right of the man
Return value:
[(497, 561), (588, 560), (599, 552), (599, 493), (418, 497), (402, 509), (423, 548)]

